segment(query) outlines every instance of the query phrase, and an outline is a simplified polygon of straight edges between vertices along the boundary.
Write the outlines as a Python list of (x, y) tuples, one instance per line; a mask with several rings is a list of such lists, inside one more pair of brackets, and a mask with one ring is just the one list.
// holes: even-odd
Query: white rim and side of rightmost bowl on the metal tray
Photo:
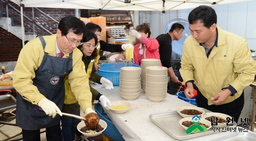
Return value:
[[(209, 116), (218, 116), (220, 118), (223, 118), (225, 121), (227, 120), (226, 118), (229, 117), (230, 119), (232, 118), (231, 116), (228, 116), (226, 114), (222, 114), (222, 113), (204, 113), (201, 118), (205, 119), (206, 117), (209, 117)], [(231, 120), (228, 124), (232, 124), (231, 123)], [(234, 125), (235, 125), (235, 122), (234, 122)], [(228, 127), (227, 126), (227, 123), (218, 123), (218, 125), (213, 125), (213, 127)]]

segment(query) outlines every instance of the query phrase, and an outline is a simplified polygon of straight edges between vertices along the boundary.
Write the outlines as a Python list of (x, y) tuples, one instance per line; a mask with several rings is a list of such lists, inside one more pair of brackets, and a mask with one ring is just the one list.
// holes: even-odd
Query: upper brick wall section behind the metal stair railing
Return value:
[[(8, 0), (8, 3), (11, 4), (14, 8), (20, 11), (20, 6)], [(75, 16), (75, 9), (61, 9), (61, 8), (38, 8), (56, 21), (60, 22), (60, 20), (68, 15)], [(2, 11), (2, 17), (6, 17), (6, 4), (0, 1), (0, 11)], [(19, 12), (15, 11), (8, 5), (8, 13), (9, 18), (13, 19), (14, 25), (21, 25), (21, 15)], [(32, 7), (23, 7), (23, 15), (28, 16), (32, 20)], [(35, 22), (38, 22), (42, 25), (45, 29), (52, 32), (53, 34), (56, 33), (57, 30), (57, 23), (54, 22), (52, 19), (46, 17), (41, 12), (37, 11), (34, 8), (34, 17)], [(33, 23), (23, 16), (23, 22), (25, 27), (25, 32), (33, 33)], [(35, 24), (35, 32), (37, 35), (50, 35), (44, 29), (39, 27)]]

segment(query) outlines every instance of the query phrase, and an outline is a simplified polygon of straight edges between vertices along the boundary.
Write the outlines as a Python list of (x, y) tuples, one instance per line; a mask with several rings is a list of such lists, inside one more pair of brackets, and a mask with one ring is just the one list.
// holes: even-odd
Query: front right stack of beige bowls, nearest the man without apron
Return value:
[(146, 96), (152, 101), (162, 101), (167, 94), (167, 67), (146, 67)]

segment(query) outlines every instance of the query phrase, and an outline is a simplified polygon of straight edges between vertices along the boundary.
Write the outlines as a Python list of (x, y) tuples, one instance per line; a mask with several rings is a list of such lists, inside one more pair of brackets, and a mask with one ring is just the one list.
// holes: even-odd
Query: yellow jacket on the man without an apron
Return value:
[(208, 99), (208, 105), (214, 104), (211, 98), (221, 88), (229, 85), (237, 91), (228, 96), (225, 103), (238, 98), (244, 87), (250, 85), (256, 74), (256, 63), (251, 57), (247, 41), (231, 32), (218, 27), (218, 46), (212, 48), (207, 58), (204, 46), (200, 46), (193, 36), (189, 36), (183, 46), (180, 74), (182, 84), (194, 80), (199, 91)]

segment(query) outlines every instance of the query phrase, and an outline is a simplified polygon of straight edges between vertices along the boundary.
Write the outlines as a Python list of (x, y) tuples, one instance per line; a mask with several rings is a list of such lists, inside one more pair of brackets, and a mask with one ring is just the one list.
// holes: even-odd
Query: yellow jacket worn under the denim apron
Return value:
[[(35, 70), (40, 66), (44, 52), (51, 56), (56, 56), (56, 38), (57, 35), (43, 36), (46, 42), (43, 50), (42, 43), (39, 38), (29, 41), (20, 51), (17, 65), (13, 72), (13, 87), (26, 97), (29, 102), (37, 104), (44, 95), (40, 94), (36, 86), (33, 85), (32, 79), (35, 78)], [(72, 88), (72, 92), (76, 95), (76, 99), (83, 109), (92, 107), (92, 93), (89, 87), (89, 79), (82, 65), (83, 54), (77, 48), (73, 50), (73, 71), (68, 74), (68, 82)], [(63, 58), (69, 57), (69, 53), (65, 53)], [(25, 98), (24, 98), (25, 99)]]

